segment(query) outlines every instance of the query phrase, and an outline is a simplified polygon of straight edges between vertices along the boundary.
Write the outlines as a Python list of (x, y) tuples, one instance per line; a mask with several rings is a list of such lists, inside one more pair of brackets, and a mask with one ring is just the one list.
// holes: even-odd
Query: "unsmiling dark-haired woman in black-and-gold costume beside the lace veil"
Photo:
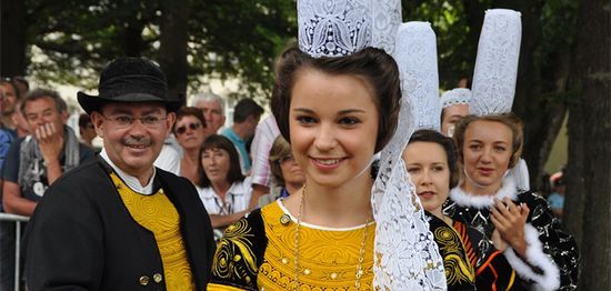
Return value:
[(468, 228), (442, 212), (459, 177), (452, 139), (434, 130), (418, 130), (402, 158), (415, 193), (431, 219), (429, 227), (443, 258), (448, 289), (475, 290), (475, 253), (467, 235)]

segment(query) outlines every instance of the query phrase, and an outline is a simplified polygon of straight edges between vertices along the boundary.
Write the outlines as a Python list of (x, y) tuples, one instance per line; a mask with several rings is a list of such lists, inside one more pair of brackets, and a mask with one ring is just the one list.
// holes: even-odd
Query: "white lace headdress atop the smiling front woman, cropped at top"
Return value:
[(299, 49), (314, 58), (348, 56), (367, 47), (392, 54), (400, 0), (299, 0)]

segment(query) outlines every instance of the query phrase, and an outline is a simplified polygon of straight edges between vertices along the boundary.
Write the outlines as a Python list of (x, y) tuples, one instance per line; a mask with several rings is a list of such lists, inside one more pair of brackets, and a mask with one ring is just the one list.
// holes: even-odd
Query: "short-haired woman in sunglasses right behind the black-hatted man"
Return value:
[(209, 136), (206, 131), (206, 119), (202, 111), (194, 107), (181, 108), (177, 112), (173, 132), (182, 148), (180, 175), (197, 184), (200, 148)]

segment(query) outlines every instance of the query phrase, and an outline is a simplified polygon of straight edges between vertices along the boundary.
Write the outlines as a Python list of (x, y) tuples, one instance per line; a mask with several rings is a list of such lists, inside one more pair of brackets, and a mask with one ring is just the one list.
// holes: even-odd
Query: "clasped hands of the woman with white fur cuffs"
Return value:
[[(524, 225), (530, 213), (528, 205), (524, 203), (515, 205), (509, 198), (504, 198), (502, 201), (495, 199), (490, 213), (490, 220), (502, 240), (511, 245), (520, 257), (525, 258)], [(494, 234), (492, 237), (494, 241)], [(497, 248), (499, 247), (502, 248), (502, 245), (497, 245)]]

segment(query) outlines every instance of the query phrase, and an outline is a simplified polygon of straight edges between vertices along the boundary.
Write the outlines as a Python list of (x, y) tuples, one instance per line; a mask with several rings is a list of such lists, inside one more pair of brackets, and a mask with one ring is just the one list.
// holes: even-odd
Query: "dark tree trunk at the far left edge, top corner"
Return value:
[(26, 4), (23, 0), (2, 0), (0, 3), (0, 76), (24, 76)]

